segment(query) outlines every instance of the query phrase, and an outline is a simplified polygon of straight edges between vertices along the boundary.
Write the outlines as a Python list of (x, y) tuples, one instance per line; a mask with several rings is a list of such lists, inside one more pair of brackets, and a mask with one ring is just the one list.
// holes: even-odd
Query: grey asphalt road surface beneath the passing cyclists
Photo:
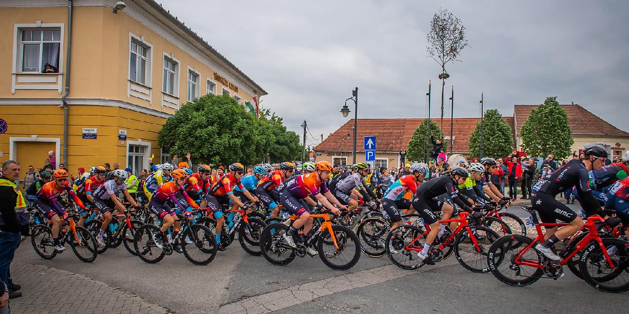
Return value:
[[(94, 263), (82, 263), (70, 249), (48, 261), (35, 254), (30, 241), (19, 247), (14, 263), (39, 264), (82, 274), (177, 313), (216, 313), (223, 305), (243, 303), (253, 296), (301, 284), (333, 280), (343, 275), (350, 277), (374, 268), (399, 270), (391, 266), (387, 257), (374, 259), (364, 255), (349, 271), (333, 271), (318, 257), (297, 257), (287, 266), (274, 266), (264, 257), (248, 255), (237, 241), (228, 251), (219, 252), (208, 266), (194, 266), (177, 253), (166, 256), (158, 264), (147, 264), (131, 256), (122, 246), (99, 254)], [(531, 286), (518, 288), (500, 283), (491, 273), (470, 273), (452, 256), (435, 266), (397, 273), (391, 279), (381, 279), (382, 282), (371, 283), (369, 278), (363, 278), (364, 283), (359, 288), (346, 287), (344, 291), (299, 302), (277, 312), (572, 313), (599, 310), (626, 313), (627, 293), (602, 293), (576, 278), (567, 268), (565, 272), (565, 277), (557, 281), (540, 279)]]

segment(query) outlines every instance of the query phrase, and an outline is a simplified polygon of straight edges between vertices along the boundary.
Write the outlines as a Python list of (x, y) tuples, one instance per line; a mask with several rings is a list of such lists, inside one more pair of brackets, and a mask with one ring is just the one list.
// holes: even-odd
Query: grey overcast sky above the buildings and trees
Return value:
[(158, 1), (262, 86), (262, 106), (300, 136), (304, 119), (316, 138), (345, 123), (354, 87), (359, 118), (425, 117), (432, 80), (438, 116), (426, 34), (440, 6), (469, 40), (446, 68), (455, 117), (479, 116), (484, 90), (503, 116), (557, 96), (629, 131), (629, 1)]

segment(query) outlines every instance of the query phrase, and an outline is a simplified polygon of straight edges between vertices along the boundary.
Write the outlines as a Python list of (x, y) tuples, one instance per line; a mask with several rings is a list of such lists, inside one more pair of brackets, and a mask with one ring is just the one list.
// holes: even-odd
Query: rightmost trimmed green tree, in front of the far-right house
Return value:
[(547, 97), (543, 104), (531, 111), (522, 124), (522, 146), (531, 156), (564, 158), (571, 153), (572, 132), (568, 115), (559, 106), (557, 97)]

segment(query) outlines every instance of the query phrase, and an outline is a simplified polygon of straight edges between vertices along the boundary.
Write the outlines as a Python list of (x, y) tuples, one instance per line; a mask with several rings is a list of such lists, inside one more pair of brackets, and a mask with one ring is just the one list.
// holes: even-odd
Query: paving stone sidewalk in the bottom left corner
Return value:
[(48, 266), (11, 264), (21, 298), (10, 300), (11, 313), (172, 313), (139, 296), (80, 274)]

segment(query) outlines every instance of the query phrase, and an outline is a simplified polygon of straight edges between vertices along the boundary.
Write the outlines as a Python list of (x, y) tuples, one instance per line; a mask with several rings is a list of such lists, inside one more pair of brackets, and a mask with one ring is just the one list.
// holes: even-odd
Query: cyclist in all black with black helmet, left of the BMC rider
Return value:
[[(424, 223), (430, 225), (430, 232), (426, 236), (426, 244), (424, 244), (421, 252), (417, 253), (417, 256), (426, 264), (433, 264), (430, 257), (428, 257), (428, 249), (430, 249), (438, 234), (443, 234), (443, 227), (440, 226), (439, 219), (434, 212), (442, 212), (441, 220), (447, 220), (450, 219), (450, 215), (452, 215), (454, 210), (452, 202), (457, 203), (460, 207), (465, 206), (464, 203), (460, 202), (459, 192), (455, 186), (463, 184), (468, 176), (469, 172), (465, 168), (457, 166), (450, 170), (450, 175), (443, 175), (424, 182), (415, 193), (415, 200), (413, 200), (412, 206), (419, 212)], [(437, 198), (444, 193), (447, 193), (448, 198), (440, 202)]]

